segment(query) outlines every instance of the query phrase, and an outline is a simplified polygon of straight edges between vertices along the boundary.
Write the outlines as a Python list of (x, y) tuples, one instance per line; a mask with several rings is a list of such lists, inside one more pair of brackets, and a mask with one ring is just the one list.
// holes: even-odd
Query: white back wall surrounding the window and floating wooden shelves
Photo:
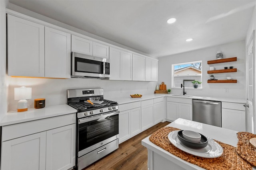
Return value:
[[(191, 42), (193, 43), (193, 42)], [(186, 63), (202, 60), (202, 89), (186, 89), (186, 95), (211, 96), (222, 98), (241, 98), (245, 99), (245, 46), (244, 41), (238, 41), (205, 49), (170, 55), (168, 57), (160, 57), (158, 61), (158, 83), (165, 82), (167, 88), (171, 88), (172, 84), (172, 64)], [(217, 51), (222, 51), (224, 58), (237, 57), (237, 61), (231, 63), (207, 64), (207, 61), (215, 60)], [(216, 70), (224, 69), (225, 66), (234, 66), (237, 72), (214, 74), (218, 80), (226, 80), (227, 76), (231, 76), (237, 80), (237, 83), (207, 83), (210, 66), (214, 66)], [(228, 88), (229, 92), (225, 93), (224, 89)], [(172, 89), (171, 94), (182, 94), (182, 88)]]

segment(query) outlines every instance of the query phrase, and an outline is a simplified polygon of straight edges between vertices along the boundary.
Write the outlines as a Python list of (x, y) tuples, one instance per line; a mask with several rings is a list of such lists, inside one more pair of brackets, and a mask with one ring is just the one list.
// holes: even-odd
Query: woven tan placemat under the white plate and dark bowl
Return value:
[(149, 140), (171, 154), (207, 170), (252, 170), (252, 166), (236, 153), (235, 147), (220, 141), (216, 142), (222, 146), (223, 154), (218, 158), (202, 158), (178, 149), (168, 139), (168, 134), (176, 130), (180, 129), (162, 127), (154, 132)]

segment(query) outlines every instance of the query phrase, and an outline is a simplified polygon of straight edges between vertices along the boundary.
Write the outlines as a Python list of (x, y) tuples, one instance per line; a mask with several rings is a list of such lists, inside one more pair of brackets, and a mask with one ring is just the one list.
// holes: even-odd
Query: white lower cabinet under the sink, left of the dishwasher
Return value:
[(170, 121), (178, 118), (192, 120), (192, 99), (167, 97), (166, 118)]

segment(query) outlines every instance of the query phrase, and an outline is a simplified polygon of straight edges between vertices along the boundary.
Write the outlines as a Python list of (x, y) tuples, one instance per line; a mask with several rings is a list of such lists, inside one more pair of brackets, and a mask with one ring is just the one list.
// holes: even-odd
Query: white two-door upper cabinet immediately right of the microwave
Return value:
[(132, 53), (110, 47), (110, 80), (132, 80)]

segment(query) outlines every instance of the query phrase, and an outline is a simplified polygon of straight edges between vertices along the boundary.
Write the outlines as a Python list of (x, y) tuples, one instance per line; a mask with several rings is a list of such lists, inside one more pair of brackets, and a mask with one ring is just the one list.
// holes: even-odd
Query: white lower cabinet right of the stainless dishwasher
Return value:
[(221, 125), (234, 131), (246, 131), (246, 112), (244, 104), (222, 102)]

